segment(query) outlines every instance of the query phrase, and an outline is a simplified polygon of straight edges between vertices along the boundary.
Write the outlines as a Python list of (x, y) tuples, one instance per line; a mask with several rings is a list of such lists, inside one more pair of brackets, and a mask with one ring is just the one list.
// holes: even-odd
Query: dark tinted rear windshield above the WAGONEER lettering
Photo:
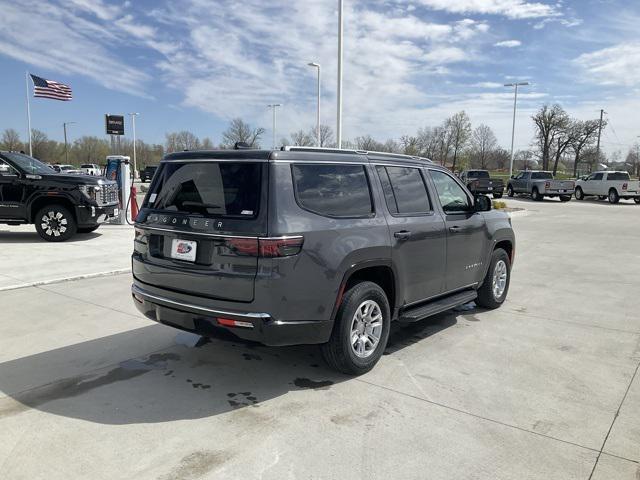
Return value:
[(253, 218), (260, 206), (261, 172), (260, 163), (165, 163), (147, 196), (147, 206), (187, 214)]

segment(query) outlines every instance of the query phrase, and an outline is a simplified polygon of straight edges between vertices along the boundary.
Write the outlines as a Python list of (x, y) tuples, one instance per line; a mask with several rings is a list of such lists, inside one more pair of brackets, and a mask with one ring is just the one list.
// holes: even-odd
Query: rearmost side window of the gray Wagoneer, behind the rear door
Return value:
[(363, 165), (291, 166), (296, 201), (305, 210), (327, 217), (370, 217), (369, 180)]

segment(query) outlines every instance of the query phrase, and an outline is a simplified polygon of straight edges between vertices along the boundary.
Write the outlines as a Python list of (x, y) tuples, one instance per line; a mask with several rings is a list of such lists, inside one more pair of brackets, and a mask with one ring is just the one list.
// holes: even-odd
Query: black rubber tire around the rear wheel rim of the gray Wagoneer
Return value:
[[(382, 314), (382, 331), (374, 350), (366, 358), (356, 355), (351, 343), (352, 324), (356, 311), (367, 301), (375, 303)], [(322, 345), (322, 355), (329, 366), (347, 375), (362, 375), (371, 370), (384, 352), (389, 339), (391, 313), (384, 290), (373, 282), (354, 285), (344, 295), (336, 315), (328, 343)]]

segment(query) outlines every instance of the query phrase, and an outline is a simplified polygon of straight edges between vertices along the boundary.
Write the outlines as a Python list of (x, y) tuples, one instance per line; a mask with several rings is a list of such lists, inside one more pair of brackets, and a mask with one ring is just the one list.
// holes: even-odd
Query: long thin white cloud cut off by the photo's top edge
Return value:
[(503, 15), (508, 18), (543, 18), (558, 15), (555, 6), (525, 0), (419, 0), (434, 10), (460, 14)]

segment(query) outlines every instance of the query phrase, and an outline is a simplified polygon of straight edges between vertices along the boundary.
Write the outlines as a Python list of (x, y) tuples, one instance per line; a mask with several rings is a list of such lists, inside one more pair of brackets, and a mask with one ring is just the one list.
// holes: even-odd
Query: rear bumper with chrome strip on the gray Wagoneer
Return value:
[[(329, 341), (333, 327), (330, 321), (282, 322), (268, 313), (232, 312), (184, 303), (152, 293), (137, 282), (131, 286), (131, 295), (136, 308), (147, 318), (204, 336), (225, 330), (268, 346), (318, 344)], [(245, 326), (221, 325), (219, 319), (235, 320)]]

